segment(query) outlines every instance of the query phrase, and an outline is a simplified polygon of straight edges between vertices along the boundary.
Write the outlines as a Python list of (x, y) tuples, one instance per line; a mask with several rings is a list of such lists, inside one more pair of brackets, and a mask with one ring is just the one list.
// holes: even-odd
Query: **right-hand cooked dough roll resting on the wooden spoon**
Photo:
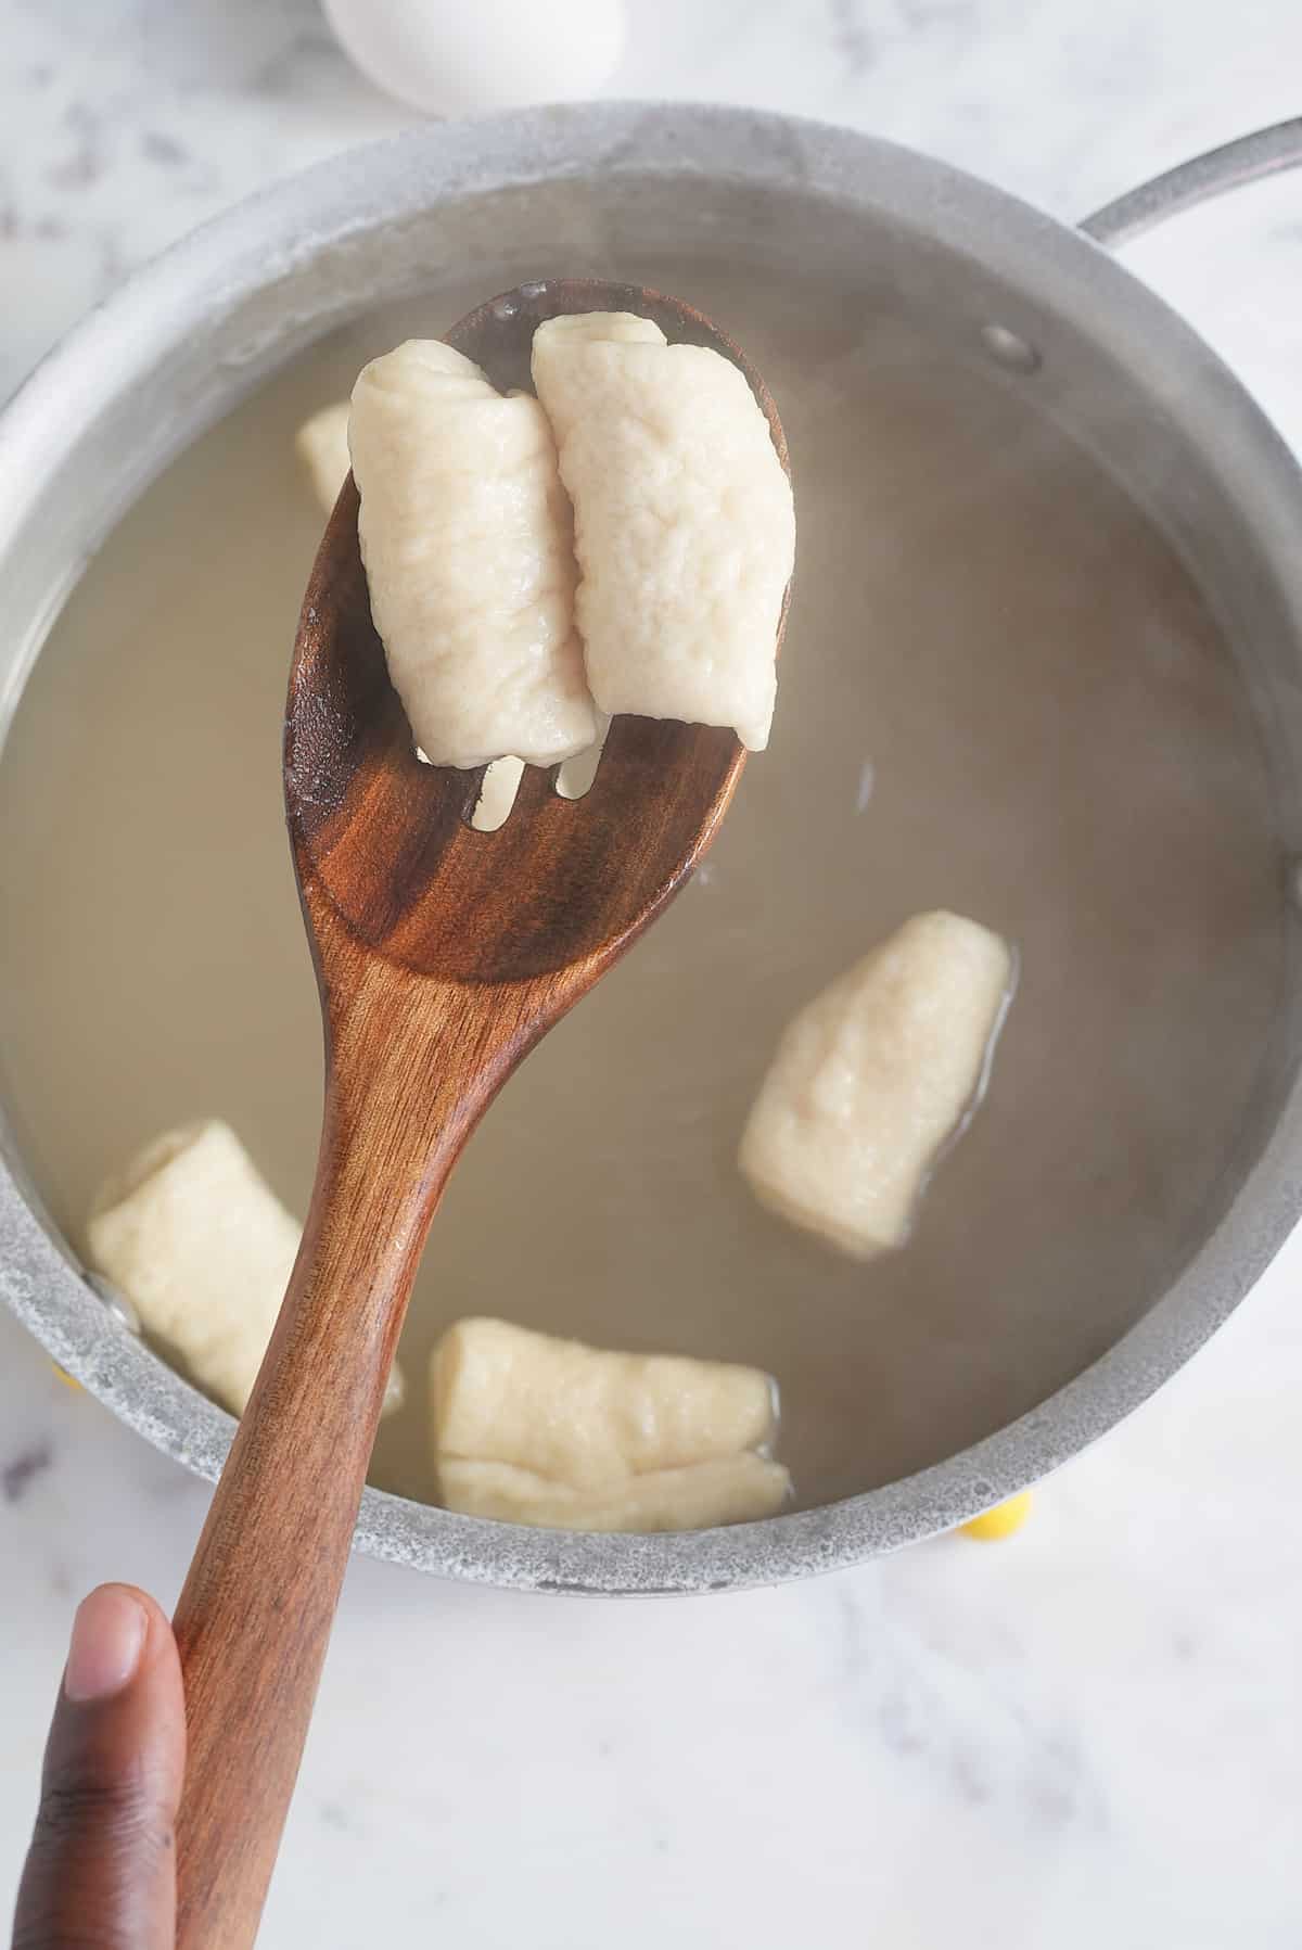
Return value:
[(550, 318), (532, 370), (575, 507), (598, 708), (731, 725), (762, 751), (795, 513), (745, 374), (628, 312)]

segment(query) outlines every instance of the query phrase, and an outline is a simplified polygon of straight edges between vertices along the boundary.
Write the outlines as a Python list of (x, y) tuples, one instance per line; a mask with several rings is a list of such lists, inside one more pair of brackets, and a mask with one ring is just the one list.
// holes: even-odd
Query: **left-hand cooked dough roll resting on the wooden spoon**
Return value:
[(575, 636), (571, 517), (546, 415), (439, 339), (353, 388), (370, 612), (431, 764), (555, 764), (596, 737)]

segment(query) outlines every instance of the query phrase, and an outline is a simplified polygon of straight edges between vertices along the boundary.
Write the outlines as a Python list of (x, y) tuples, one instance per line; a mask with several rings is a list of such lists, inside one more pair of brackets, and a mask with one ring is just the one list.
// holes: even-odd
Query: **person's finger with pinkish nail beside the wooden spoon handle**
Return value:
[(99, 1585), (72, 1624), (14, 1950), (173, 1950), (183, 1769), (172, 1624), (134, 1585)]

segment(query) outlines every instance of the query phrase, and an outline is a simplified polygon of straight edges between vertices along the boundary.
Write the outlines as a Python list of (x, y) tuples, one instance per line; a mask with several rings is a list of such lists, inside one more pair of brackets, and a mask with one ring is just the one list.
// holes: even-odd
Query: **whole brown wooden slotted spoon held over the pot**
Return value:
[[(674, 298), (528, 285), (448, 341), (507, 390), (528, 384), (544, 318), (591, 310), (641, 312), (670, 341), (741, 365), (785, 464), (758, 374)], [(175, 1613), (189, 1722), (181, 1950), (242, 1950), (257, 1934), (384, 1383), (448, 1172), (515, 1065), (690, 876), (743, 762), (733, 731), (620, 718), (587, 798), (561, 800), (554, 772), (528, 768), (507, 823), (472, 831), (481, 772), (421, 764), (388, 682), (349, 476), (308, 583), (285, 725), (326, 1115), (302, 1248)]]

